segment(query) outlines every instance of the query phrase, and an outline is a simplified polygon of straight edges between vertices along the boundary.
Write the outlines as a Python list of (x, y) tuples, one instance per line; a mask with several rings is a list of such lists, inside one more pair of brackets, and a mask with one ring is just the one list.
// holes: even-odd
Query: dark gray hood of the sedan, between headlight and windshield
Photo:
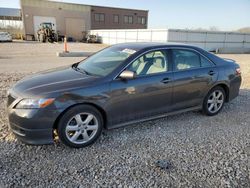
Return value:
[(45, 95), (86, 87), (97, 79), (98, 77), (78, 72), (72, 67), (61, 67), (28, 76), (18, 81), (12, 90), (21, 96)]

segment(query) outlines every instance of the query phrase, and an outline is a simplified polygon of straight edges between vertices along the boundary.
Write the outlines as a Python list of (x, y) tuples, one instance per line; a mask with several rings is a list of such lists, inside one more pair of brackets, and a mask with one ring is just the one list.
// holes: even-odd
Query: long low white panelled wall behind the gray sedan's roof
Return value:
[(105, 44), (124, 42), (177, 42), (219, 53), (250, 53), (250, 33), (185, 29), (91, 30)]

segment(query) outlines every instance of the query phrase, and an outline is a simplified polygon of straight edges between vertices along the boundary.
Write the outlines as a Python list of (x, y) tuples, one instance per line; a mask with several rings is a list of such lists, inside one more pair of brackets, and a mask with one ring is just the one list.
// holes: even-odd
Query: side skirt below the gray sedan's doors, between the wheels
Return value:
[(134, 124), (134, 123), (150, 121), (150, 120), (159, 119), (159, 118), (163, 118), (163, 117), (170, 116), (170, 115), (175, 115), (175, 114), (180, 114), (180, 113), (195, 111), (195, 110), (201, 110), (201, 109), (202, 109), (201, 106), (195, 106), (195, 107), (186, 108), (186, 109), (183, 109), (183, 110), (178, 110), (178, 111), (174, 111), (174, 112), (160, 114), (160, 115), (157, 115), (157, 116), (152, 116), (152, 117), (148, 117), (148, 118), (128, 121), (128, 122), (124, 122), (124, 123), (115, 124), (115, 125), (112, 125), (112, 126), (107, 126), (107, 129), (115, 129), (115, 128), (123, 127), (123, 126), (126, 126), (126, 125)]

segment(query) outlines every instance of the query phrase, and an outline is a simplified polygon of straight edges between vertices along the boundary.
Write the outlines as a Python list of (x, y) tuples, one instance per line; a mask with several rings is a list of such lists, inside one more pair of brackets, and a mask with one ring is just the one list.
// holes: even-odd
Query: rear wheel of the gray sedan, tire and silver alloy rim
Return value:
[(216, 86), (212, 88), (203, 101), (203, 113), (208, 116), (214, 116), (218, 114), (225, 103), (226, 94), (225, 90)]

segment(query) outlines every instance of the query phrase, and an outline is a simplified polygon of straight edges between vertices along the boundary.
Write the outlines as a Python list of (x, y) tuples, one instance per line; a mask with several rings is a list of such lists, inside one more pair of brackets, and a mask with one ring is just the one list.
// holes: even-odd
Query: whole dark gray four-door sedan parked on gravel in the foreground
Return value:
[(117, 44), (37, 73), (8, 93), (13, 133), (28, 144), (85, 147), (102, 130), (190, 110), (219, 113), (239, 94), (240, 67), (182, 44)]

